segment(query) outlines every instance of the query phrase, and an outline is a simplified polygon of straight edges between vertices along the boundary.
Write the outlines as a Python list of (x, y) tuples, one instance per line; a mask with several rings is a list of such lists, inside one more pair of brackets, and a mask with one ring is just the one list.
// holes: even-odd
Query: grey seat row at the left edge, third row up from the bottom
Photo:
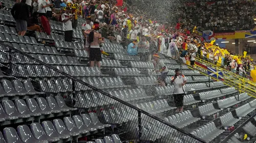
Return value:
[(2, 80), (0, 84), (0, 97), (15, 97), (25, 95), (39, 95), (44, 94), (43, 92), (35, 91), (30, 80)]

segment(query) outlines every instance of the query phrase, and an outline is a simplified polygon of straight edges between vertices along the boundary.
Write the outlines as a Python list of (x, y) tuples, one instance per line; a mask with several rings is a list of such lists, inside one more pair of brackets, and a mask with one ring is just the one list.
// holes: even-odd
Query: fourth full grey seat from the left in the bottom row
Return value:
[(70, 137), (70, 135), (59, 134), (56, 131), (56, 129), (54, 128), (52, 122), (50, 122), (50, 121), (42, 122), (42, 128), (44, 129), (46, 135), (49, 136), (49, 137), (59, 138), (59, 139), (67, 139), (67, 138)]

